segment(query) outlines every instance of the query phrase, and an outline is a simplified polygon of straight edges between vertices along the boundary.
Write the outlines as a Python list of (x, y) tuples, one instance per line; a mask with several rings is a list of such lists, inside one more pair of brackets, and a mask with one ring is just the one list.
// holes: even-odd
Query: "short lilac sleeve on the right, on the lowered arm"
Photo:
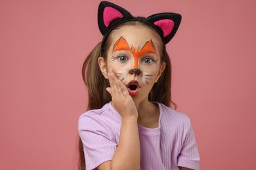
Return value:
[(179, 167), (187, 167), (190, 169), (200, 169), (200, 156), (198, 152), (198, 146), (194, 136), (190, 120), (187, 122), (186, 137), (182, 143), (182, 149), (177, 159)]

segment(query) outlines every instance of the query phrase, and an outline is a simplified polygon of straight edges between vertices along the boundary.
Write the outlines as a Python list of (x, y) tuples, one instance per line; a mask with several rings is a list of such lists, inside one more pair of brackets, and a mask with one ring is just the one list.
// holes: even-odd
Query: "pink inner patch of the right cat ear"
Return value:
[(163, 19), (154, 22), (154, 25), (157, 25), (161, 28), (161, 30), (163, 31), (163, 37), (167, 37), (171, 33), (171, 31), (173, 31), (173, 27), (175, 24), (173, 20)]

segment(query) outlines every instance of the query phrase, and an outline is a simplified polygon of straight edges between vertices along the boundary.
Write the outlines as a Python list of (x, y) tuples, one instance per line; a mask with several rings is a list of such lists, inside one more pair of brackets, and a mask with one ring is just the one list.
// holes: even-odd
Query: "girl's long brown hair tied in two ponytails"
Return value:
[[(144, 25), (146, 27), (150, 27), (143, 22), (133, 21), (133, 22), (125, 22), (124, 24), (119, 25), (115, 29), (119, 29), (119, 27), (123, 25)], [(154, 29), (152, 29), (154, 31)], [(154, 31), (155, 32), (155, 31)], [(104, 54), (102, 57), (106, 59), (108, 54), (108, 48), (110, 46), (111, 41), (111, 33), (106, 39), (104, 43)], [(100, 109), (106, 103), (111, 101), (111, 95), (106, 91), (106, 88), (110, 86), (108, 80), (104, 78), (100, 71), (100, 67), (98, 65), (98, 58), (100, 57), (100, 47), (101, 42), (99, 42), (95, 48), (90, 52), (83, 63), (82, 75), (85, 85), (88, 90), (88, 106), (87, 110), (92, 109)], [(148, 95), (149, 101), (155, 101), (158, 103), (163, 103), (167, 107), (173, 107), (177, 109), (177, 105), (171, 101), (171, 61), (169, 59), (169, 55), (165, 50), (161, 50), (161, 62), (165, 62), (165, 70), (161, 74), (158, 82), (156, 82)], [(157, 95), (156, 95), (157, 94)], [(79, 170), (85, 169), (85, 156), (83, 152), (83, 143), (79, 138)]]

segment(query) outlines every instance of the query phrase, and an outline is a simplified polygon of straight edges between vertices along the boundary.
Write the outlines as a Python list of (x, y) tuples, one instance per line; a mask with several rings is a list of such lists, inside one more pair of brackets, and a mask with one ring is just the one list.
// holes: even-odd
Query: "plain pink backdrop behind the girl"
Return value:
[[(75, 169), (99, 2), (0, 1), (0, 169)], [(167, 45), (173, 100), (192, 120), (201, 169), (256, 169), (255, 1), (112, 2), (182, 14)]]

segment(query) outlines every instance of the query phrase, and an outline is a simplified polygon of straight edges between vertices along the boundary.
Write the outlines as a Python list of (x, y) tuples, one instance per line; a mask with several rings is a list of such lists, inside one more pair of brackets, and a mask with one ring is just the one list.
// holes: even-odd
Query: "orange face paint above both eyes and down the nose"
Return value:
[(116, 43), (114, 44), (113, 52), (119, 51), (119, 50), (129, 50), (133, 54), (134, 58), (134, 69), (138, 69), (138, 63), (140, 56), (146, 54), (146, 53), (156, 53), (156, 48), (153, 43), (153, 41), (150, 39), (147, 41), (142, 48), (138, 46), (135, 48), (134, 46), (129, 46), (127, 41), (123, 39), (123, 37), (120, 37)]

